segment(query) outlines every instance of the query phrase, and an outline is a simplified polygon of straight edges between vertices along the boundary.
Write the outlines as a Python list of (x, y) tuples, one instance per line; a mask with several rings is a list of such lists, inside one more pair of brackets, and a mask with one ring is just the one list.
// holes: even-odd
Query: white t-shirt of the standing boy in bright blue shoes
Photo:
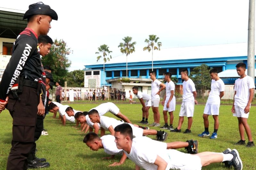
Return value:
[(224, 92), (224, 91), (225, 91), (225, 85), (221, 79), (217, 81), (212, 80), (211, 92), (209, 94), (209, 97), (206, 103), (220, 105), (220, 92)]

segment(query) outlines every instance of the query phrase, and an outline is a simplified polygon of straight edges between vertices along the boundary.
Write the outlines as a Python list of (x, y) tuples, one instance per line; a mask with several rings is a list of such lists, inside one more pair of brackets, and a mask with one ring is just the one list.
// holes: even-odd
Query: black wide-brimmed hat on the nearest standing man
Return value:
[(28, 11), (25, 12), (23, 19), (27, 19), (30, 16), (37, 14), (48, 15), (52, 17), (52, 19), (58, 20), (57, 13), (53, 9), (51, 9), (49, 5), (45, 5), (42, 2), (29, 5)]

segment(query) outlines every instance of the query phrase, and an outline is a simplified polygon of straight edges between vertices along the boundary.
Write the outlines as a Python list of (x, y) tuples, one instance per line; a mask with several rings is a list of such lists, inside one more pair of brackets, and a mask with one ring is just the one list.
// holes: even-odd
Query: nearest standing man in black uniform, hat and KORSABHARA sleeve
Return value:
[(6, 106), (13, 118), (12, 148), (7, 170), (27, 169), (28, 166), (27, 157), (34, 143), (36, 117), (44, 115), (44, 106), (40, 104), (40, 81), (44, 71), (37, 49), (37, 37), (47, 35), (52, 19), (57, 20), (58, 15), (49, 5), (40, 2), (29, 5), (23, 19), (28, 19), (27, 28), (14, 42), (12, 57), (0, 83), (0, 112)]

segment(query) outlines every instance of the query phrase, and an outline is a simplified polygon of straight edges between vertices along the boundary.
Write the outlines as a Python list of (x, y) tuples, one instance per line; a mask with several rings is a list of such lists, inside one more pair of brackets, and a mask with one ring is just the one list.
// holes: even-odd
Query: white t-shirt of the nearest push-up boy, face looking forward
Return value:
[(148, 137), (135, 137), (132, 139), (131, 152), (128, 154), (124, 151), (124, 153), (136, 165), (146, 170), (152, 170), (157, 169), (154, 164), (157, 155), (167, 163), (170, 161), (166, 149), (167, 144), (164, 142), (152, 140)]

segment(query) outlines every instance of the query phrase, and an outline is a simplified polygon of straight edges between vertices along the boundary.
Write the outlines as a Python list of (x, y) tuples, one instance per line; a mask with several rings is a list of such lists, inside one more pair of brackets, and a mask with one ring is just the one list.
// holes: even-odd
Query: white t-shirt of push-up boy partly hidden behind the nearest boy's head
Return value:
[(115, 137), (112, 135), (104, 135), (100, 138), (102, 140), (102, 145), (104, 152), (109, 155), (123, 154), (122, 149), (116, 147)]

